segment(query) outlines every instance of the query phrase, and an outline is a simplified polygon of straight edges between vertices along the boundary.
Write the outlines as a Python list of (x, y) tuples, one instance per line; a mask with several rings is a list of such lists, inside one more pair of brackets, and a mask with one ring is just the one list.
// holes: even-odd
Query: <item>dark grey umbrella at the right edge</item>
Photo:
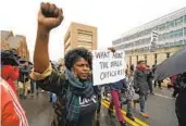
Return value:
[(186, 46), (156, 67), (156, 79), (162, 80), (186, 72)]

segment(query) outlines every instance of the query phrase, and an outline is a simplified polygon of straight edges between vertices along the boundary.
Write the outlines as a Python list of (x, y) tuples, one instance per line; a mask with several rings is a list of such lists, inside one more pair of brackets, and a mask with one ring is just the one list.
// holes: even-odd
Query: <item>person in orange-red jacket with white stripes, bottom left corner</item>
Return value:
[(1, 89), (1, 126), (28, 126), (15, 91), (0, 77)]

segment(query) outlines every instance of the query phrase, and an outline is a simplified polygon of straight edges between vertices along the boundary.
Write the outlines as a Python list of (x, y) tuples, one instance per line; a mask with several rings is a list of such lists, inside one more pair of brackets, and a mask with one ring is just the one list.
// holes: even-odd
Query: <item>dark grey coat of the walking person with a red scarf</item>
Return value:
[(135, 90), (139, 90), (139, 94), (147, 94), (149, 86), (147, 83), (147, 71), (136, 70), (134, 74)]

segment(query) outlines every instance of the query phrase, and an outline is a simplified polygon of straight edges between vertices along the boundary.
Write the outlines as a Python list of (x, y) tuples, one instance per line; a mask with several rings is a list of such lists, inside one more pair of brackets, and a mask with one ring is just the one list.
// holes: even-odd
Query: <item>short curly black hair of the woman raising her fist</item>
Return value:
[(91, 68), (92, 54), (90, 51), (88, 51), (85, 48), (76, 48), (76, 49), (70, 50), (65, 54), (64, 64), (65, 64), (66, 68), (71, 70), (72, 66), (74, 65), (74, 63), (80, 58), (85, 59)]

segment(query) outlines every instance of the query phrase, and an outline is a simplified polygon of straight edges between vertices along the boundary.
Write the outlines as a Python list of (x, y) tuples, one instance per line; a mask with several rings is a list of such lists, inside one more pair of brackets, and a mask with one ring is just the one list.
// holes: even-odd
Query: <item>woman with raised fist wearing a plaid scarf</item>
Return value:
[(65, 55), (65, 74), (60, 75), (49, 63), (49, 34), (62, 22), (62, 9), (41, 3), (34, 52), (32, 78), (45, 90), (58, 96), (54, 126), (92, 126), (98, 105), (97, 92), (90, 76), (91, 52), (78, 48)]

